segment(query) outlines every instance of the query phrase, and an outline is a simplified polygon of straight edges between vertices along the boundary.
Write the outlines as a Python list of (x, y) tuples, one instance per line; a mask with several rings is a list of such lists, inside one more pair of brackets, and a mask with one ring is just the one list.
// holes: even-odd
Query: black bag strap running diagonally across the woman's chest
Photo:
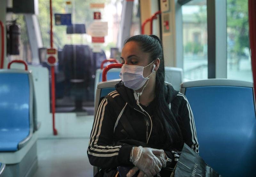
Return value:
[[(111, 102), (111, 104), (113, 105), (114, 111), (116, 112), (116, 115), (118, 116), (120, 114), (120, 112), (118, 111), (118, 110), (120, 110), (120, 109), (118, 109), (118, 108), (120, 108), (120, 105), (118, 105), (117, 102), (110, 95), (106, 95), (105, 98), (107, 98), (108, 101)], [(127, 132), (128, 136), (130, 136), (130, 138), (132, 138), (132, 139), (136, 139), (137, 135), (125, 114), (122, 114), (122, 118), (119, 119), (119, 122), (124, 127), (124, 130)]]

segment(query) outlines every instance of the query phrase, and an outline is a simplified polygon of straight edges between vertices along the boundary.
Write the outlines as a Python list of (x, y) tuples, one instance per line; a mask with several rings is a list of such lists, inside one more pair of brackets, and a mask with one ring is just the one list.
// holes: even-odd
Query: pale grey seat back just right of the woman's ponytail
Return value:
[(164, 67), (165, 70), (165, 81), (172, 84), (175, 90), (180, 89), (180, 84), (182, 83), (182, 68), (175, 67)]

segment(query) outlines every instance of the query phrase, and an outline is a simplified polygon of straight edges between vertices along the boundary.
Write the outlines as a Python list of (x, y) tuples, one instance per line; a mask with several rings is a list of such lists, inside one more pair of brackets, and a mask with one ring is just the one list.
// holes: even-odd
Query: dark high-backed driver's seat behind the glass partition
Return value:
[(87, 91), (93, 82), (92, 50), (88, 45), (65, 45), (62, 53), (67, 91), (75, 97), (75, 111), (84, 111), (83, 101), (88, 100)]

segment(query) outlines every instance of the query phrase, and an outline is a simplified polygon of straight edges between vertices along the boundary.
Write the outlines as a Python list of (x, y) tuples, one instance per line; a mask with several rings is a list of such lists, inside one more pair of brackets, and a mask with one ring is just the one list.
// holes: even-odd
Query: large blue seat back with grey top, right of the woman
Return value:
[(199, 155), (223, 176), (256, 176), (253, 83), (207, 79), (181, 84), (194, 114)]

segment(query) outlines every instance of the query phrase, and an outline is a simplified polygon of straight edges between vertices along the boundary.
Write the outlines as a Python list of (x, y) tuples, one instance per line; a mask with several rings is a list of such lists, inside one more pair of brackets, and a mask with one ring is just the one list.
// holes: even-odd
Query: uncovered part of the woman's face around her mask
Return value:
[[(140, 46), (135, 41), (127, 42), (124, 45), (121, 53), (121, 62), (127, 65), (136, 65), (136, 66), (147, 66), (150, 61), (149, 53), (143, 52), (140, 49)], [(148, 77), (151, 74), (153, 69), (153, 64), (150, 64), (148, 67), (143, 70), (143, 77)]]

